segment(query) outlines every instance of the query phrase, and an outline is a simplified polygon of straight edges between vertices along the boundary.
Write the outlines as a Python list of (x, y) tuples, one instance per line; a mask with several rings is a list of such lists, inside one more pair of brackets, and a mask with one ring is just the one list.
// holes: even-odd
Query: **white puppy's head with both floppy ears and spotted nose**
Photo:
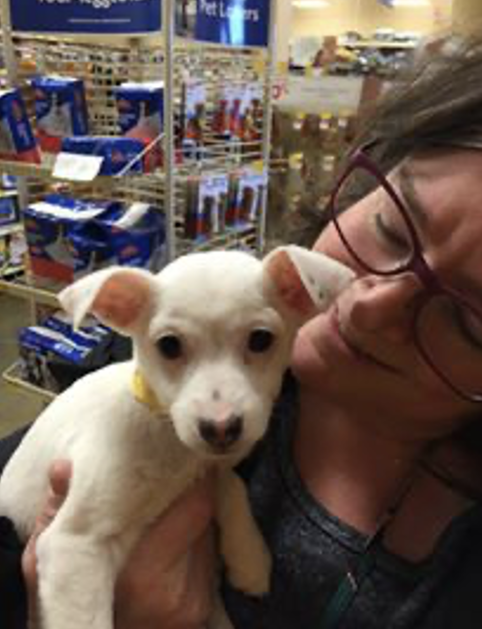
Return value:
[(91, 311), (133, 339), (135, 362), (178, 437), (207, 457), (262, 437), (294, 335), (352, 280), (320, 253), (281, 247), (259, 261), (196, 253), (162, 272), (114, 267), (60, 294), (78, 325)]

